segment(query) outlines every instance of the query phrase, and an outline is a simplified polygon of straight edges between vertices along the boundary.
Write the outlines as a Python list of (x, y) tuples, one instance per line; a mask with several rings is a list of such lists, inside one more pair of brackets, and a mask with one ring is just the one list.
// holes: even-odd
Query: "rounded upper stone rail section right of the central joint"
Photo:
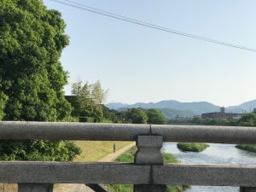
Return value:
[(256, 127), (208, 125), (151, 125), (164, 142), (256, 143)]

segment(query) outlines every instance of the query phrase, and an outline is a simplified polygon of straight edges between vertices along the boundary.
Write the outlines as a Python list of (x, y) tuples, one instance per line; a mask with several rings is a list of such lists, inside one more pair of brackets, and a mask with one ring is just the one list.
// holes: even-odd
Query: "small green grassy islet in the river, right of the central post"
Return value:
[(201, 152), (209, 146), (206, 143), (177, 143), (177, 148), (183, 152)]

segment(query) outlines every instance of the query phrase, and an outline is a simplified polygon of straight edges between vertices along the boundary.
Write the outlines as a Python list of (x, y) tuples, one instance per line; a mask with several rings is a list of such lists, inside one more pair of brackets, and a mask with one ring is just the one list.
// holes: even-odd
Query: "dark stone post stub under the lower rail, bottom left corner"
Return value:
[(19, 183), (18, 192), (53, 192), (53, 184)]

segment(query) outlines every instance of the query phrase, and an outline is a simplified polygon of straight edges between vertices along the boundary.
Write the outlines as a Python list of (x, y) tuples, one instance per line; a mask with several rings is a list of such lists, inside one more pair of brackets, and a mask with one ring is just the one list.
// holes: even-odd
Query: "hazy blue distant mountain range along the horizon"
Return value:
[[(167, 119), (179, 117), (193, 117), (201, 113), (218, 112), (219, 106), (211, 102), (177, 102), (175, 100), (161, 101), (161, 102), (137, 102), (135, 104), (125, 104), (121, 102), (112, 102), (106, 105), (108, 108), (115, 110), (125, 110), (125, 108), (160, 108)], [(226, 108), (228, 113), (245, 113), (253, 111), (256, 108), (256, 100), (250, 102), (243, 102), (237, 106), (230, 106)]]

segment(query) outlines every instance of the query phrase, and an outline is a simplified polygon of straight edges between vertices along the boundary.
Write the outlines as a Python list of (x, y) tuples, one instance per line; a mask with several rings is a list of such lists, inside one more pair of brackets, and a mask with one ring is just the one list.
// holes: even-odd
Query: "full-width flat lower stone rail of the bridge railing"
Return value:
[(256, 187), (255, 180), (256, 166), (138, 166), (125, 163), (0, 161), (0, 183), (193, 184)]

